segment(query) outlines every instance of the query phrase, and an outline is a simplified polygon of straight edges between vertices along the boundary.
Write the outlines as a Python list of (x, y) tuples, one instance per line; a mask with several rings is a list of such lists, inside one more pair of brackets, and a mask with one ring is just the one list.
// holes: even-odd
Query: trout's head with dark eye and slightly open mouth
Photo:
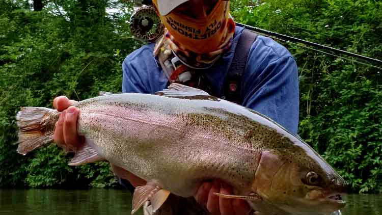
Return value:
[(331, 214), (344, 207), (346, 182), (309, 148), (264, 151), (253, 191), (284, 214)]

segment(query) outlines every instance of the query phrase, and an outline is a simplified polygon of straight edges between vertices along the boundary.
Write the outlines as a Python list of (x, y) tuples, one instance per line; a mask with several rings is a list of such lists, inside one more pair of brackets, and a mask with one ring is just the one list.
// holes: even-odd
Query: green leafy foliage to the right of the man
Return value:
[[(233, 5), (236, 21), (382, 59), (380, 2), (268, 0)], [(299, 135), (338, 170), (351, 191), (381, 193), (382, 71), (284, 44), (299, 65)]]

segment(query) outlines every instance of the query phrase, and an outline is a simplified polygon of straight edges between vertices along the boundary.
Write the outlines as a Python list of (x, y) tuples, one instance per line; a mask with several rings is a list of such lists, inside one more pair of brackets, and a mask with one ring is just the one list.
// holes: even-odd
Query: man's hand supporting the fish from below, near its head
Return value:
[(206, 206), (212, 215), (248, 215), (251, 210), (244, 200), (227, 199), (213, 193), (232, 194), (232, 187), (219, 180), (203, 182), (199, 186), (194, 198), (199, 204)]

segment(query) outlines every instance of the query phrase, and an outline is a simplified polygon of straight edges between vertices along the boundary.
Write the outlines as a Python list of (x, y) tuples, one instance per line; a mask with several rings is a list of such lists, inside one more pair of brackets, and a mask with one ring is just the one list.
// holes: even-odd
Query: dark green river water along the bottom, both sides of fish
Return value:
[[(347, 195), (343, 215), (382, 215), (382, 195)], [(2, 190), (0, 215), (127, 215), (131, 194), (124, 190)], [(142, 213), (139, 213), (142, 214)]]

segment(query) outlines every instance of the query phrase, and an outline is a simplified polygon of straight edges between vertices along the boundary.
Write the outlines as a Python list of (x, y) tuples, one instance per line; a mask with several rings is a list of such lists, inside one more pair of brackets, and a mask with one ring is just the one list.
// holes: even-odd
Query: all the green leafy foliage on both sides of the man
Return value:
[[(116, 185), (107, 163), (68, 167), (71, 155), (53, 145), (18, 155), (14, 116), (21, 106), (49, 107), (58, 95), (120, 91), (122, 61), (141, 45), (128, 32), (131, 2), (47, 0), (34, 12), (26, 1), (0, 0), (0, 186)], [(231, 2), (235, 21), (382, 59), (379, 1)], [(299, 135), (353, 192), (382, 193), (382, 71), (283, 44), (299, 66)]]

